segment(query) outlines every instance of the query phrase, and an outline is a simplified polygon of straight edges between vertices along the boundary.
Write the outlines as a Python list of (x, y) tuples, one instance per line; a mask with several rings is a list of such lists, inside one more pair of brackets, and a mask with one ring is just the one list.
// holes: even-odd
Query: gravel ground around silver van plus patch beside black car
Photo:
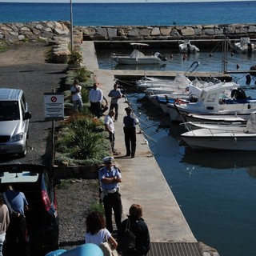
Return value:
[[(0, 53), (0, 86), (24, 90), (32, 114), (28, 154), (25, 158), (0, 156), (0, 164), (21, 162), (50, 166), (52, 122), (44, 120), (43, 94), (62, 85), (66, 65), (47, 63), (47, 50), (48, 46), (42, 43), (30, 42)], [(98, 180), (62, 181), (57, 198), (60, 248), (70, 249), (84, 242), (85, 216), (90, 205), (98, 200)]]

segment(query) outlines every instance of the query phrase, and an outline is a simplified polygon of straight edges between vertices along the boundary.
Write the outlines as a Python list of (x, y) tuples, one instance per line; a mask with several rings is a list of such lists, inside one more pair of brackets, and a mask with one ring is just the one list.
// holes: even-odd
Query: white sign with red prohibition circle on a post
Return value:
[(46, 93), (44, 94), (45, 118), (64, 118), (64, 94)]

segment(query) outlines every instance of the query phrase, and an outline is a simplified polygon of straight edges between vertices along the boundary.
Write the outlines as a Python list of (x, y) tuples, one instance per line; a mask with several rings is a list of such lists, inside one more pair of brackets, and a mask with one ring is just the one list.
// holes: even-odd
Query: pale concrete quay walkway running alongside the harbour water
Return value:
[[(94, 72), (100, 84), (99, 87), (110, 104), (110, 98), (107, 95), (113, 89), (114, 74), (117, 70), (98, 69), (94, 42), (82, 42), (82, 56), (82, 66), (86, 66), (88, 70)], [(121, 194), (124, 218), (133, 203), (142, 205), (143, 218), (150, 230), (149, 256), (202, 255), (198, 241), (194, 238), (194, 234), (190, 230), (158, 163), (151, 154), (139, 126), (137, 127), (135, 158), (125, 157), (126, 147), (122, 119), (126, 115), (126, 106), (125, 99), (120, 99), (118, 122), (114, 122), (115, 148), (120, 152), (118, 156), (114, 156), (114, 164), (122, 172)]]

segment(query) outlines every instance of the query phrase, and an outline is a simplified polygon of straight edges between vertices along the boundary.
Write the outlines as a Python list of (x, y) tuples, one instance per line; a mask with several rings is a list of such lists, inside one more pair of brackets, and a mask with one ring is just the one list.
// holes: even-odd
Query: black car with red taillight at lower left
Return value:
[(0, 165), (1, 192), (7, 185), (12, 185), (14, 190), (25, 194), (29, 203), (26, 222), (30, 250), (38, 254), (58, 249), (59, 218), (54, 190), (57, 183), (58, 180), (51, 178), (46, 166)]

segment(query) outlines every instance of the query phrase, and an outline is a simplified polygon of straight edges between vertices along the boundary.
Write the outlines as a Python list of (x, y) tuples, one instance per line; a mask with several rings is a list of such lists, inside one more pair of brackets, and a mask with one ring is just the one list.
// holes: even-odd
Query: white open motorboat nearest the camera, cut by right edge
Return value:
[(251, 113), (246, 126), (223, 126), (190, 130), (181, 135), (182, 141), (194, 149), (256, 150), (256, 114)]

